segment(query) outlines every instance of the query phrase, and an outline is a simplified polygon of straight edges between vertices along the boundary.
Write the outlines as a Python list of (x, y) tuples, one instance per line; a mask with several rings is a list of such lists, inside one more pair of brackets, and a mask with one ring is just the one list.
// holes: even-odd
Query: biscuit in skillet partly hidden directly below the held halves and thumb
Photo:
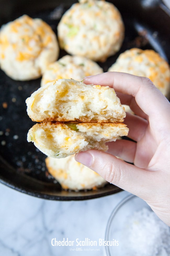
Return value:
[(66, 158), (46, 158), (49, 173), (61, 184), (63, 189), (85, 190), (103, 187), (107, 182), (95, 171), (76, 162), (75, 155)]

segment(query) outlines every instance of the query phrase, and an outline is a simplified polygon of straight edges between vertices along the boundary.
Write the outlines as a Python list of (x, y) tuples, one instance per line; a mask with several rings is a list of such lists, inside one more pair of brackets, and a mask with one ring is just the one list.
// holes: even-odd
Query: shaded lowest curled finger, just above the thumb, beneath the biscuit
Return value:
[(136, 143), (130, 140), (116, 140), (115, 142), (108, 142), (109, 149), (107, 153), (115, 155), (129, 163), (134, 162)]

